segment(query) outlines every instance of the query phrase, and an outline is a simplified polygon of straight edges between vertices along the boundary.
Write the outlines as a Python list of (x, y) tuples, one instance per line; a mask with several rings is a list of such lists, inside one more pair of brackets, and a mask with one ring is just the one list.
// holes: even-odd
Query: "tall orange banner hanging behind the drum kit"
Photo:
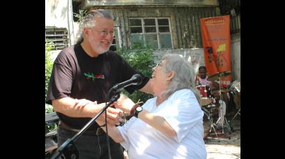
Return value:
[[(229, 15), (201, 18), (205, 66), (210, 75), (231, 71)], [(225, 74), (224, 74), (225, 75)], [(222, 86), (231, 83), (231, 75), (221, 77)]]

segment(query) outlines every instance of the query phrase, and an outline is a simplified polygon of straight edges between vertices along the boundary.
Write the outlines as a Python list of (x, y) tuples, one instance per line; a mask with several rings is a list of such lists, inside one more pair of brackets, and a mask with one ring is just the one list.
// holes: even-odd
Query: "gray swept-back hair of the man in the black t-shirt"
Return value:
[(108, 12), (108, 10), (91, 10), (88, 14), (84, 17), (83, 21), (79, 26), (79, 32), (77, 35), (76, 44), (79, 44), (83, 41), (84, 34), (83, 28), (93, 28), (96, 24), (95, 17), (104, 17), (106, 19), (113, 19), (113, 16)]

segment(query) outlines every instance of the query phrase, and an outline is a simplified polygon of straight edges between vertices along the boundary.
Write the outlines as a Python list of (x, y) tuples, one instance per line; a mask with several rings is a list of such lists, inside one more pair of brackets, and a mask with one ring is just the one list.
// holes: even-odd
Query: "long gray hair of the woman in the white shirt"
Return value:
[(168, 98), (172, 93), (183, 88), (188, 88), (195, 94), (198, 102), (200, 100), (199, 92), (195, 88), (194, 82), (194, 71), (191, 68), (189, 62), (186, 61), (183, 57), (177, 54), (166, 54), (163, 55), (162, 60), (166, 61), (166, 66), (163, 67), (164, 72), (168, 73), (174, 71), (175, 75), (172, 78), (170, 85), (163, 92), (164, 97)]

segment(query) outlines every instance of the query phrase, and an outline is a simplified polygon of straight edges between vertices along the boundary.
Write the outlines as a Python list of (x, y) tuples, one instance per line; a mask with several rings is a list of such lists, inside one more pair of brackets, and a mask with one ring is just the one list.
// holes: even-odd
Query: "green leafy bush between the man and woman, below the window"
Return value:
[[(154, 50), (151, 48), (143, 48), (139, 44), (135, 44), (131, 49), (120, 49), (117, 50), (119, 55), (122, 55), (124, 59), (126, 59), (129, 64), (136, 69), (136, 71), (146, 75), (147, 77), (152, 76), (152, 68), (155, 66), (154, 59), (155, 55), (153, 53)], [(149, 98), (153, 97), (150, 94), (142, 93), (140, 91), (135, 91), (133, 94), (127, 93), (127, 91), (123, 91), (125, 95), (127, 95), (133, 102), (146, 102)]]

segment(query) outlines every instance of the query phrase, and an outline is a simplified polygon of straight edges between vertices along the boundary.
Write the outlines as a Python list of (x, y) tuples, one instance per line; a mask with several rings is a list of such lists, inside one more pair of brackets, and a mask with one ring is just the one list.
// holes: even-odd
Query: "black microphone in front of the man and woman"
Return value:
[(142, 83), (142, 76), (140, 74), (135, 74), (131, 77), (131, 79), (122, 82), (120, 84), (116, 84), (115, 86), (113, 86), (111, 88), (111, 91), (115, 91), (115, 93), (119, 93), (120, 91), (122, 91), (122, 89), (124, 87), (127, 87), (129, 85), (139, 85)]

